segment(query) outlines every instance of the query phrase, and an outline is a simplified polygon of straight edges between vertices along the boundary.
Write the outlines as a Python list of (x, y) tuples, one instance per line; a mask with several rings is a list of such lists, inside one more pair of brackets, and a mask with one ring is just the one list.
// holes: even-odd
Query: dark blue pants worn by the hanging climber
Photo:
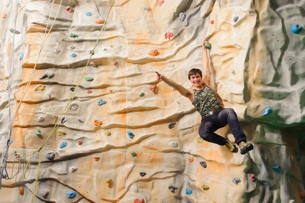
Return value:
[(223, 146), (226, 143), (226, 139), (214, 132), (219, 128), (225, 127), (227, 124), (229, 124), (237, 144), (241, 141), (247, 142), (247, 137), (243, 133), (237, 115), (232, 108), (225, 108), (202, 119), (199, 126), (199, 135), (205, 141)]

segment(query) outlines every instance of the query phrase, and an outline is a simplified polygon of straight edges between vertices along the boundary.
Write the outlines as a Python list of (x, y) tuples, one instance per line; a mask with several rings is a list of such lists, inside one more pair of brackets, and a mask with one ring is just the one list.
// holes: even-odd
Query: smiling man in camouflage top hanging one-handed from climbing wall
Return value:
[(208, 69), (207, 48), (204, 46), (205, 43), (208, 42), (205, 41), (202, 44), (202, 66), (204, 76), (202, 77), (201, 70), (196, 68), (191, 69), (188, 75), (189, 80), (193, 84), (193, 89), (186, 89), (182, 85), (156, 71), (157, 80), (163, 80), (166, 84), (172, 86), (181, 95), (187, 97), (192, 102), (202, 117), (199, 126), (199, 135), (202, 139), (221, 146), (226, 146), (230, 152), (236, 152), (237, 148), (232, 142), (215, 133), (219, 128), (223, 128), (229, 124), (235, 142), (240, 148), (240, 154), (244, 155), (253, 150), (253, 145), (247, 143), (247, 137), (239, 125), (235, 111), (232, 108), (223, 108), (212, 88)]

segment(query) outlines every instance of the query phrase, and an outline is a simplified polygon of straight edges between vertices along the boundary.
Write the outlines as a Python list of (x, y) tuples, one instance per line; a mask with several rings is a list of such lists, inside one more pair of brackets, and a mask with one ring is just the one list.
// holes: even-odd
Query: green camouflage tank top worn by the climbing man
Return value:
[(203, 84), (202, 90), (195, 90), (195, 89), (193, 90), (194, 90), (195, 98), (192, 104), (201, 114), (201, 117), (203, 117), (203, 115), (206, 115), (210, 111), (222, 107), (215, 94), (215, 91), (206, 84)]

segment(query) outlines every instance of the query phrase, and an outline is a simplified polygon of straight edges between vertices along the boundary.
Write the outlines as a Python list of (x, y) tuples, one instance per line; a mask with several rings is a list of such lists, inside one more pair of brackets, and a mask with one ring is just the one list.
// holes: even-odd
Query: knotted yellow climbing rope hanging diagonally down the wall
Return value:
[[(99, 39), (100, 39), (100, 37), (101, 37), (102, 31), (104, 30), (104, 26), (105, 26), (105, 24), (106, 24), (106, 21), (107, 21), (107, 18), (108, 18), (108, 16), (109, 16), (110, 10), (111, 10), (111, 8), (112, 8), (112, 6), (113, 6), (113, 3), (114, 3), (114, 0), (111, 1), (111, 5), (110, 5), (110, 7), (109, 7), (109, 10), (108, 10), (108, 13), (107, 13), (105, 22), (104, 22), (104, 24), (103, 24), (103, 26), (102, 26), (102, 29), (101, 29), (101, 31), (100, 31), (99, 37), (98, 37), (98, 39), (97, 39), (97, 41), (96, 41), (96, 43), (95, 43), (95, 45), (94, 45), (94, 48), (93, 48), (93, 50), (92, 50), (92, 52), (91, 52), (91, 54), (90, 54), (90, 57), (89, 57), (89, 59), (88, 59), (88, 61), (87, 61), (87, 64), (86, 64), (86, 67), (85, 67), (85, 69), (84, 69), (84, 71), (83, 71), (83, 73), (82, 73), (80, 79), (78, 80), (78, 83), (77, 83), (77, 85), (76, 85), (76, 88), (75, 88), (74, 92), (72, 93), (72, 95), (71, 95), (71, 97), (70, 97), (70, 99), (69, 99), (69, 101), (68, 101), (68, 103), (67, 103), (65, 109), (63, 110), (62, 114), (60, 115), (60, 117), (58, 117), (58, 120), (57, 120), (55, 126), (53, 127), (52, 131), (50, 132), (50, 134), (48, 135), (47, 139), (44, 141), (44, 143), (42, 144), (42, 146), (39, 147), (37, 150), (35, 150), (35, 151), (33, 151), (33, 152), (26, 152), (26, 153), (20, 154), (20, 155), (22, 155), (22, 156), (19, 155), (20, 157), (30, 156), (29, 159), (28, 159), (28, 161), (27, 161), (27, 163), (26, 163), (26, 166), (25, 166), (24, 179), (26, 179), (26, 178), (29, 176), (29, 173), (30, 173), (30, 171), (31, 171), (31, 158), (32, 158), (32, 156), (33, 156), (36, 152), (39, 152), (39, 155), (40, 155), (40, 156), (39, 156), (39, 162), (38, 162), (38, 168), (37, 168), (36, 179), (35, 179), (35, 186), (34, 186), (34, 190), (33, 190), (33, 200), (32, 200), (32, 203), (34, 202), (34, 199), (35, 199), (35, 191), (36, 191), (36, 187), (38, 186), (38, 182), (39, 182), (39, 181), (38, 181), (38, 175), (39, 175), (39, 169), (40, 169), (40, 164), (41, 164), (41, 159), (42, 159), (41, 149), (43, 148), (43, 146), (45, 145), (45, 143), (48, 141), (48, 139), (52, 136), (52, 134), (55, 132), (55, 130), (58, 128), (58, 126), (60, 125), (60, 123), (58, 124), (58, 122), (59, 122), (60, 119), (62, 118), (62, 115), (64, 114), (65, 111), (66, 111), (66, 112), (65, 112), (64, 117), (66, 117), (66, 115), (67, 115), (67, 112), (68, 112), (68, 110), (69, 110), (69, 107), (70, 107), (70, 105), (71, 105), (71, 103), (72, 103), (72, 101), (73, 101), (73, 98), (74, 98), (74, 96), (75, 96), (75, 94), (76, 94), (76, 92), (77, 92), (78, 86), (79, 86), (79, 84), (80, 84), (80, 82), (81, 82), (81, 80), (82, 80), (82, 78), (83, 78), (83, 76), (84, 76), (84, 73), (85, 73), (85, 71), (86, 71), (86, 69), (87, 69), (87, 66), (88, 66), (88, 64), (89, 64), (89, 62), (90, 62), (90, 59), (91, 59), (91, 57), (92, 57), (92, 55), (93, 55), (93, 53), (94, 53), (94, 50), (95, 50), (95, 48), (97, 47), (97, 44), (98, 44)], [(31, 154), (31, 153), (32, 153), (32, 154)], [(31, 154), (31, 155), (30, 155), (30, 154)], [(26, 173), (26, 170), (27, 170), (27, 166), (28, 166), (29, 169), (28, 169), (28, 174), (27, 174), (27, 176), (25, 177), (25, 173)]]

